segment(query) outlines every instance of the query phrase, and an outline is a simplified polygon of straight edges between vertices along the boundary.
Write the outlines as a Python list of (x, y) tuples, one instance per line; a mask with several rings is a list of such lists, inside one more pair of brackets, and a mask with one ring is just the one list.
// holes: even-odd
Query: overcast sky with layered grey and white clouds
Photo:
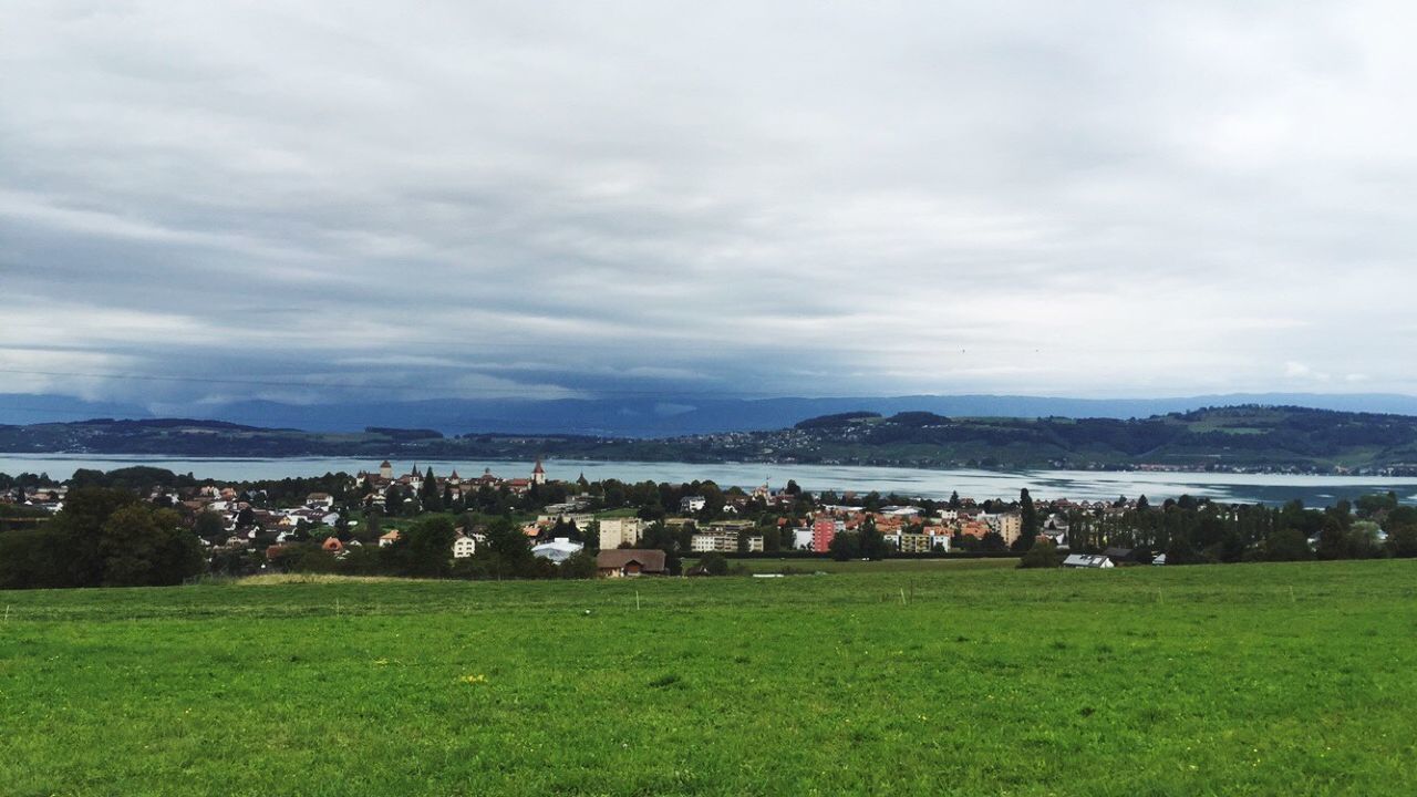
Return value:
[(1417, 393), (1410, 3), (256, 6), (0, 6), (0, 393)]

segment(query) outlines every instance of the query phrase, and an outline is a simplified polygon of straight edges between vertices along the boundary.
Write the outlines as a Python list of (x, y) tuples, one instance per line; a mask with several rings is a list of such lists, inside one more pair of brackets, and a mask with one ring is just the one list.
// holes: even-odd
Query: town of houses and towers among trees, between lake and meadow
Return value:
[[(152, 468), (67, 482), (0, 475), (0, 529), (45, 528), (84, 491), (126, 489), (190, 530), (200, 574), (329, 572), (431, 577), (716, 574), (728, 560), (1016, 556), (1020, 566), (1115, 567), (1410, 556), (1417, 511), (1393, 495), (1322, 511), (1182, 496), (1114, 502), (948, 501), (704, 482), (435, 474), (390, 461), (354, 475), (218, 484)], [(1389, 533), (1391, 530), (1391, 533)], [(4, 540), (0, 539), (0, 543)], [(13, 579), (14, 580), (14, 579)], [(24, 579), (18, 579), (24, 581)], [(41, 579), (43, 581), (43, 579)]]

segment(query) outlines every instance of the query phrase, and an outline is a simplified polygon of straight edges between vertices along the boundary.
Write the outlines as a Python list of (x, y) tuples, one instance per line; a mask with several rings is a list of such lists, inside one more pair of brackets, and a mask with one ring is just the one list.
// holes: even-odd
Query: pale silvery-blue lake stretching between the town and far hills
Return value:
[[(317, 476), (326, 472), (349, 474), (374, 471), (377, 461), (349, 458), (271, 458), (271, 459), (198, 459), (156, 455), (88, 457), (67, 454), (0, 454), (0, 472), (47, 472), (54, 478), (69, 478), (78, 468), (112, 471), (133, 465), (166, 468), (179, 474), (220, 481), (278, 479), (283, 476)], [(394, 462), (395, 472), (407, 472), (411, 461)], [(503, 478), (529, 476), (531, 462), (425, 459), (419, 469), (432, 467), (436, 474), (458, 469), (462, 476), (482, 474), (490, 468)], [(1301, 499), (1309, 506), (1332, 503), (1339, 498), (1356, 498), (1369, 492), (1397, 492), (1407, 503), (1417, 503), (1417, 476), (1306, 476), (1285, 474), (1153, 474), (1101, 471), (931, 471), (920, 468), (867, 468), (846, 465), (769, 465), (760, 462), (728, 462), (699, 465), (689, 462), (609, 462), (582, 459), (547, 459), (546, 469), (553, 479), (575, 479), (581, 474), (591, 481), (621, 479), (626, 482), (689, 482), (713, 479), (721, 486), (754, 488), (768, 484), (774, 488), (795, 479), (809, 491), (879, 491), (920, 498), (961, 496), (1017, 498), (1027, 488), (1034, 498), (1070, 498), (1074, 501), (1108, 501), (1119, 495), (1146, 495), (1152, 502), (1180, 495), (1206, 496), (1230, 502), (1282, 503)]]

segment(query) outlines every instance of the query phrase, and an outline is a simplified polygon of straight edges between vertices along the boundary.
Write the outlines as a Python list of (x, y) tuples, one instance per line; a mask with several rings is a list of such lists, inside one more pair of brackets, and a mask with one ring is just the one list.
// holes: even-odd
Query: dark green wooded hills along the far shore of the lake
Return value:
[(1217, 407), (1149, 418), (822, 416), (778, 431), (660, 440), (367, 428), (332, 434), (215, 421), (0, 425), (14, 454), (183, 457), (601, 458), (981, 468), (1417, 472), (1417, 417), (1299, 407)]

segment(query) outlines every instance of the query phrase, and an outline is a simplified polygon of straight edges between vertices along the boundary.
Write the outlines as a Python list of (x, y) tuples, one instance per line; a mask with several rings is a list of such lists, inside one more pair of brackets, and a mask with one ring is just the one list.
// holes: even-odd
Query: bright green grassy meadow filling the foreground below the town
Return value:
[(6, 796), (1417, 790), (1417, 562), (0, 603)]

